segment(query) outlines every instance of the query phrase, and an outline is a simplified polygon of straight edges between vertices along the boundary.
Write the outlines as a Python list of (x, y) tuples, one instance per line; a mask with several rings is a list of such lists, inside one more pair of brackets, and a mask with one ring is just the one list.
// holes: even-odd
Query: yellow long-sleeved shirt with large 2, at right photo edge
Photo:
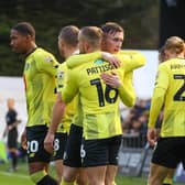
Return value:
[(159, 66), (150, 109), (149, 128), (154, 128), (164, 105), (161, 137), (185, 137), (185, 59), (173, 58)]

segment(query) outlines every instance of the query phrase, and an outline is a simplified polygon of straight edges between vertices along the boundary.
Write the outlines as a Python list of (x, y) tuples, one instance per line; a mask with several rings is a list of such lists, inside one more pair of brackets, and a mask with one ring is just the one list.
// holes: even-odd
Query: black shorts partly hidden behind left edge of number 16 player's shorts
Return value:
[(64, 165), (70, 167), (81, 167), (80, 145), (83, 128), (72, 124), (69, 135), (64, 152)]

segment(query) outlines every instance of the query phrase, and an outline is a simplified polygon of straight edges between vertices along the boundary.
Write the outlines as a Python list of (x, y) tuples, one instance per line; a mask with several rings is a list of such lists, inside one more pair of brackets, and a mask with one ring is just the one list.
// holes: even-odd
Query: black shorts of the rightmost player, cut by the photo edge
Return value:
[(152, 163), (176, 168), (179, 162), (185, 168), (185, 137), (160, 138), (153, 152)]

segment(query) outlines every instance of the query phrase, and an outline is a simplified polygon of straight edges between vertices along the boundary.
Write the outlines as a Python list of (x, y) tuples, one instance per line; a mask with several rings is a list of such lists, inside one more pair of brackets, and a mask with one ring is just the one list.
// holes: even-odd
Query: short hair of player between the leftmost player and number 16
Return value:
[(67, 25), (61, 29), (58, 39), (63, 39), (66, 44), (77, 46), (79, 29), (75, 25)]

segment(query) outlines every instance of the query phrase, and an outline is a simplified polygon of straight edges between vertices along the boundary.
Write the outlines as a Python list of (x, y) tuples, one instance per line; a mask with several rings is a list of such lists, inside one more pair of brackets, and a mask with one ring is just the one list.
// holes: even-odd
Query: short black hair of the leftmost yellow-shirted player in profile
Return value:
[(29, 22), (19, 22), (17, 25), (12, 28), (12, 30), (17, 30), (19, 33), (23, 35), (31, 35), (35, 39), (35, 30), (33, 25)]

